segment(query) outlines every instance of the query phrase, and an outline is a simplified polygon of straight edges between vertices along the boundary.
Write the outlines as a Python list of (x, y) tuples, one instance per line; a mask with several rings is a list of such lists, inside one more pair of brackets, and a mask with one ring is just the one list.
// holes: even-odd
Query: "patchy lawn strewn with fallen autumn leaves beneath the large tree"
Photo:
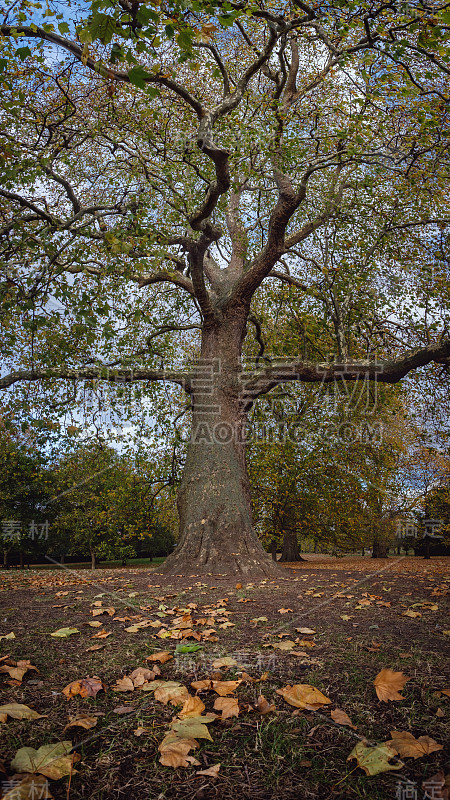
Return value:
[[(450, 703), (445, 673), (449, 559), (314, 558), (289, 565), (277, 581), (242, 586), (221, 576), (192, 575), (169, 582), (157, 569), (1, 574), (0, 636), (13, 632), (15, 638), (0, 641), (0, 704), (25, 704), (45, 715), (30, 720), (8, 716), (0, 726), (4, 798), (45, 797), (47, 790), (58, 800), (448, 796), (442, 777), (445, 750), (438, 745), (445, 745)], [(50, 635), (60, 628), (79, 632), (68, 638)], [(191, 645), (201, 649), (183, 652)], [(146, 660), (160, 651), (173, 657), (165, 663)], [(236, 664), (213, 666), (222, 657)], [(20, 682), (13, 662), (21, 660), (39, 671), (26, 671)], [(116, 682), (136, 668), (152, 672), (155, 665), (160, 675), (141, 670), (135, 674), (135, 688), (132, 676), (119, 684), (128, 691), (114, 691)], [(383, 669), (408, 677), (406, 682), (400, 678), (403, 699), (378, 699), (373, 682)], [(94, 676), (106, 691), (70, 699), (62, 693), (73, 681)], [(237, 699), (238, 712), (236, 703), (218, 703), (217, 691), (205, 691), (211, 685), (191, 686), (210, 679), (241, 681), (235, 687), (214, 684), (230, 692), (224, 699)], [(186, 697), (186, 689), (169, 687), (175, 690), (172, 704), (167, 686), (166, 693), (158, 692), (161, 685), (152, 687), (154, 680), (181, 684), (192, 696), (198, 690), (203, 717), (217, 715), (205, 726), (212, 741), (201, 738), (198, 728), (196, 738), (196, 729), (189, 727), (195, 722), (188, 723), (175, 737), (190, 739), (184, 756), (173, 756), (167, 747), (162, 756), (158, 747), (181, 712), (183, 703), (176, 702)], [(297, 684), (316, 687), (331, 703), (312, 695), (304, 702), (316, 708), (305, 710), (277, 693)], [(95, 692), (95, 682), (89, 691)], [(267, 710), (262, 701), (258, 705), (261, 695), (274, 710), (261, 713)], [(345, 711), (355, 727), (339, 725), (336, 709)], [(239, 715), (222, 719), (227, 711)], [(91, 718), (85, 724), (95, 727), (64, 730), (74, 717)], [(362, 740), (374, 747), (391, 740), (391, 731), (416, 739), (427, 736), (433, 743), (415, 745), (417, 758), (396, 756), (391, 746), (384, 756), (389, 771), (373, 776), (357, 761), (347, 761), (355, 745), (364, 748)], [(28, 784), (23, 777), (14, 778), (25, 771), (20, 760), (11, 767), (20, 748), (62, 741), (70, 741), (72, 752), (80, 756), (73, 768), (72, 755), (63, 752), (61, 762), (54, 757), (53, 764), (68, 773), (65, 777), (47, 783), (45, 764), (52, 758), (41, 757), (34, 769), (41, 769), (43, 778)], [(161, 756), (175, 763), (187, 756), (187, 766), (164, 766)], [(214, 770), (198, 774), (218, 764), (216, 777)]]

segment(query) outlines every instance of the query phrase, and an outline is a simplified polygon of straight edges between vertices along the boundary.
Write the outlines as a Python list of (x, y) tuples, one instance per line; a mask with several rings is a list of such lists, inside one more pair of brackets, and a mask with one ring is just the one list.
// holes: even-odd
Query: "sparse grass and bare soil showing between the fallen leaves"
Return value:
[[(450, 627), (444, 617), (445, 597), (436, 597), (437, 612), (425, 610), (421, 618), (408, 619), (402, 613), (413, 602), (429, 600), (433, 587), (442, 586), (446, 564), (439, 568), (436, 564), (434, 572), (432, 565), (425, 569), (422, 564), (421, 569), (417, 562), (417, 568), (412, 565), (415, 571), (384, 574), (376, 585), (371, 575), (366, 585), (358, 583), (358, 589), (352, 592), (354, 598), (348, 600), (333, 599), (336, 584), (359, 582), (362, 575), (352, 577), (341, 563), (335, 564), (333, 571), (305, 567), (297, 574), (301, 580), (290, 574), (273, 585), (255, 582), (238, 590), (234, 581), (209, 581), (210, 586), (217, 587), (211, 589), (205, 588), (207, 579), (192, 577), (170, 586), (166, 582), (161, 585), (158, 576), (161, 584), (156, 586), (151, 570), (145, 568), (128, 573), (123, 568), (99, 570), (92, 576), (95, 585), (65, 571), (36, 571), (26, 576), (10, 573), (7, 591), (0, 592), (0, 634), (14, 630), (16, 639), (0, 642), (2, 654), (9, 653), (16, 660), (29, 658), (38, 666), (39, 674), (28, 673), (21, 685), (8, 684), (8, 676), (0, 675), (2, 702), (26, 703), (47, 716), (34, 722), (9, 720), (1, 727), (0, 748), (6, 769), (20, 747), (38, 748), (69, 738), (82, 761), (70, 788), (67, 779), (51, 781), (55, 800), (272, 800), (278, 796), (283, 800), (395, 800), (399, 775), (417, 786), (421, 798), (422, 781), (445, 763), (442, 751), (417, 761), (406, 759), (399, 773), (374, 777), (367, 777), (347, 758), (358, 737), (383, 742), (389, 739), (391, 730), (409, 731), (416, 737), (429, 735), (445, 742), (450, 701), (439, 693), (449, 685), (443, 660), (448, 640), (442, 630)], [(323, 592), (323, 596), (305, 596), (312, 589)], [(61, 592), (67, 594), (58, 596)], [(102, 592), (106, 594), (101, 599), (115, 606), (115, 618), (119, 619), (100, 617), (113, 635), (104, 641), (90, 641), (95, 629), (86, 622), (92, 620), (92, 603)], [(129, 598), (134, 592), (136, 597)], [(363, 592), (388, 598), (391, 607), (373, 602), (369, 608), (355, 610)], [(214, 658), (235, 655), (239, 661), (242, 653), (254, 678), (259, 679), (269, 669), (262, 682), (243, 683), (238, 688), (238, 718), (216, 720), (210, 725), (213, 742), (201, 741), (194, 753), (201, 766), (176, 770), (159, 763), (158, 745), (179, 709), (156, 702), (150, 693), (115, 693), (111, 688), (117, 678), (143, 666), (151, 652), (174, 652), (177, 640), (159, 639), (152, 628), (130, 634), (125, 628), (131, 622), (120, 621), (147, 613), (155, 619), (161, 604), (155, 598), (163, 596), (169, 610), (196, 603), (194, 618), (220, 598), (228, 597), (229, 618), (235, 623), (226, 629), (216, 626), (218, 641), (203, 642), (201, 651), (175, 656), (162, 667), (163, 678), (178, 680), (190, 688), (191, 681), (211, 675)], [(254, 602), (239, 602), (246, 597)], [(321, 605), (324, 601), (325, 607)], [(151, 609), (144, 612), (141, 606)], [(281, 607), (291, 607), (292, 614), (280, 615)], [(301, 620), (296, 621), (299, 613)], [(343, 621), (343, 613), (351, 619)], [(267, 616), (268, 622), (253, 625), (251, 619), (259, 616)], [(171, 617), (160, 619), (169, 624)], [(49, 636), (56, 628), (68, 625), (77, 627), (80, 634), (62, 640)], [(310, 637), (316, 646), (308, 649), (306, 658), (264, 647), (276, 641), (280, 626), (289, 637), (295, 637), (298, 625), (316, 630)], [(86, 652), (94, 641), (104, 648)], [(378, 701), (373, 679), (385, 667), (410, 677), (403, 690), (404, 701)], [(240, 674), (238, 667), (232, 667), (223, 671), (222, 679), (235, 679)], [(67, 701), (61, 694), (64, 686), (88, 675), (99, 675), (109, 687), (107, 692), (100, 692), (95, 699), (77, 696)], [(356, 731), (333, 724), (326, 709), (300, 712), (289, 706), (276, 693), (288, 683), (317, 686), (333, 700), (330, 707), (346, 711)], [(275, 713), (262, 716), (249, 710), (260, 693), (275, 703)], [(213, 693), (202, 694), (208, 712), (213, 710), (214, 697)], [(134, 713), (118, 714), (115, 709), (122, 705), (133, 707)], [(437, 716), (439, 708), (445, 709), (444, 717)], [(96, 728), (64, 732), (69, 715), (86, 712), (102, 714)], [(133, 732), (138, 725), (146, 728), (140, 737)], [(217, 779), (197, 776), (198, 770), (217, 763), (221, 764)]]

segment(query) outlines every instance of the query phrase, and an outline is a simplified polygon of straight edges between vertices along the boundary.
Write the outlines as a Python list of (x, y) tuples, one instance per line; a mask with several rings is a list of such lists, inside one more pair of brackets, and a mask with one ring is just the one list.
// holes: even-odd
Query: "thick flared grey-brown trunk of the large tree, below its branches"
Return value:
[(245, 317), (205, 329), (192, 379), (192, 432), (178, 492), (179, 543), (161, 571), (279, 576), (252, 523), (245, 463), (241, 344)]

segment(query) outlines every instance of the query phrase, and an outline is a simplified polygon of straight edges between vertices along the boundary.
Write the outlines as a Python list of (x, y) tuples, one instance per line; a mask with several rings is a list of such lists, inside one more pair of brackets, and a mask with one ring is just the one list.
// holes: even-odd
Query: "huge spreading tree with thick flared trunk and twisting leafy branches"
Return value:
[[(55, 408), (83, 382), (171, 402), (152, 386), (181, 386), (192, 433), (165, 569), (270, 574), (245, 464), (257, 398), (449, 363), (449, 13), (95, 0), (83, 21), (36, 5), (1, 26), (0, 386), (39, 382)], [(320, 347), (313, 325), (262, 358), (273, 282)]]

